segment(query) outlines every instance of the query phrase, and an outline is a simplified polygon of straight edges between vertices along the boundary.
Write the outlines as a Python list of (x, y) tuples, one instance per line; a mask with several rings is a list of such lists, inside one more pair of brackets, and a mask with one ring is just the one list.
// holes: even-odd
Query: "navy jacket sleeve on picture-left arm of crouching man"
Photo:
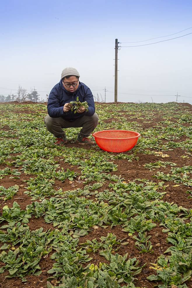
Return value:
[(64, 115), (63, 106), (60, 107), (59, 90), (55, 87), (53, 87), (49, 94), (47, 111), (49, 116), (53, 118), (58, 118)]

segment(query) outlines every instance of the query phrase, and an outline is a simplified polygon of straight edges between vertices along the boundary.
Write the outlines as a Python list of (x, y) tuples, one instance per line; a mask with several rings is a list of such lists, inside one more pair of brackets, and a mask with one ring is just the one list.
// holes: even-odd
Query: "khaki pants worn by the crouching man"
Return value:
[(95, 113), (93, 116), (82, 116), (73, 122), (69, 122), (62, 117), (52, 118), (47, 115), (44, 119), (47, 130), (57, 138), (62, 138), (64, 135), (63, 128), (77, 128), (82, 127), (81, 134), (89, 136), (91, 132), (97, 127), (98, 115)]

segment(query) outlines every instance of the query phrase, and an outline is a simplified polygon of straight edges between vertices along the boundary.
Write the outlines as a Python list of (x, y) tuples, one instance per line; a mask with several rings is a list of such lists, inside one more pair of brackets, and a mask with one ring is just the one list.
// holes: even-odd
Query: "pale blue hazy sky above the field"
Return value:
[[(192, 1), (1, 0), (0, 94), (18, 85), (45, 99), (62, 69), (75, 67), (80, 81), (114, 101), (115, 39), (136, 42), (192, 27)], [(121, 46), (152, 43), (181, 33)], [(192, 34), (118, 51), (118, 101), (192, 104)], [(15, 90), (14, 90), (15, 89)], [(45, 92), (43, 92), (45, 91)], [(125, 93), (125, 94), (123, 94)], [(127, 94), (126, 94), (127, 93)], [(137, 95), (135, 95), (137, 94)], [(187, 98), (191, 97), (191, 98)]]

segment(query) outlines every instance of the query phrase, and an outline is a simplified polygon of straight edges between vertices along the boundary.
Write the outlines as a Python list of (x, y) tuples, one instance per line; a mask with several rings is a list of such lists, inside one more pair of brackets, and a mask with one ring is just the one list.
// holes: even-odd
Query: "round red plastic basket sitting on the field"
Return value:
[(128, 130), (103, 130), (92, 134), (97, 145), (108, 152), (125, 152), (132, 149), (140, 136)]

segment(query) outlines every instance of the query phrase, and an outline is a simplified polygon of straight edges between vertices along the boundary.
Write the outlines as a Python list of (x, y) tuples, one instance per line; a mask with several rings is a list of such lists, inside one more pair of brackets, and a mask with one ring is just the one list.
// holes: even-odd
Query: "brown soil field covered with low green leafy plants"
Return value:
[[(11, 235), (10, 238), (6, 238), (6, 241), (1, 242), (1, 249), (3, 245), (7, 245), (1, 250), (7, 253), (7, 256), (2, 253), (0, 255), (1, 267), (7, 265), (7, 268), (0, 274), (0, 287), (45, 288), (47, 278), (51, 276), (53, 279), (49, 279), (51, 284), (48, 287), (51, 285), (58, 287), (63, 276), (81, 278), (83, 277), (82, 271), (88, 269), (90, 273), (98, 273), (98, 267), (104, 273), (108, 273), (114, 282), (122, 279), (118, 282), (118, 285), (122, 287), (150, 288), (157, 285), (156, 287), (163, 288), (171, 287), (172, 284), (182, 288), (192, 287), (189, 272), (192, 270), (190, 258), (192, 250), (192, 180), (190, 180), (192, 106), (187, 103), (96, 103), (96, 112), (100, 119), (96, 131), (106, 129), (137, 131), (141, 134), (137, 145), (124, 153), (108, 153), (97, 145), (75, 143), (77, 131), (69, 129), (67, 130), (69, 143), (64, 147), (55, 147), (54, 138), (46, 131), (43, 123), (43, 118), (46, 116), (46, 104), (14, 102), (0, 105), (0, 233)], [(94, 184), (98, 184), (96, 188)], [(10, 187), (14, 187), (15, 192), (8, 190)], [(43, 199), (50, 201), (45, 206), (50, 208), (43, 206)], [(66, 202), (61, 204), (60, 200)], [(17, 202), (20, 208), (17, 208), (16, 212), (15, 210), (8, 211), (8, 208), (13, 208), (14, 202)], [(32, 207), (32, 203), (36, 203), (36, 206)], [(41, 209), (38, 203), (42, 205)], [(62, 210), (64, 205), (65, 208)], [(38, 212), (37, 209), (39, 209)], [(55, 214), (52, 213), (53, 209), (56, 211)], [(69, 217), (66, 216), (64, 219), (62, 214), (67, 213), (67, 210), (69, 210)], [(20, 211), (25, 212), (22, 214)], [(25, 216), (26, 213), (29, 221), (22, 223), (22, 219), (28, 217)], [(40, 242), (35, 242), (34, 245), (43, 247), (44, 250), (35, 258), (36, 250), (27, 251), (27, 245), (32, 245), (32, 243), (26, 242), (26, 239), (23, 242), (26, 234), (22, 235), (21, 231), (11, 234), (11, 230), (18, 223), (22, 223), (21, 225), (25, 227), (29, 226), (29, 231), (42, 227), (43, 232), (50, 229), (48, 232), (50, 233), (58, 229), (63, 233), (62, 235), (70, 235), (73, 240), (78, 240), (74, 247), (69, 248), (70, 251), (76, 253), (83, 247), (81, 252), (83, 249), (85, 252), (82, 252), (84, 254), (79, 252), (82, 258), (78, 256), (79, 262), (76, 267), (73, 266), (71, 260), (73, 258), (66, 258), (67, 256), (65, 258), (68, 262), (57, 261), (58, 255), (56, 255), (56, 260), (50, 259), (53, 253), (60, 253), (59, 247), (63, 248), (65, 241), (60, 237), (59, 245), (54, 247), (53, 240), (50, 240), (50, 243), (49, 241), (44, 243), (43, 240), (39, 240), (38, 234), (34, 242)], [(151, 226), (151, 223), (154, 225)], [(2, 226), (5, 227), (2, 228)], [(183, 230), (181, 227), (184, 227)], [(79, 231), (82, 232), (82, 236), (74, 237)], [(116, 236), (113, 239), (114, 242), (109, 241), (108, 233)], [(148, 236), (151, 237), (148, 238)], [(145, 240), (142, 240), (142, 237)], [(97, 243), (103, 241), (103, 246), (98, 247), (98, 244), (94, 244), (96, 247), (93, 242), (88, 242), (93, 239), (96, 239)], [(70, 241), (68, 242), (73, 243)], [(121, 244), (123, 242), (126, 244)], [(188, 245), (186, 246), (185, 243)], [(151, 248), (150, 245), (152, 245)], [(8, 251), (14, 252), (18, 247), (22, 247), (23, 251), (20, 249), (18, 254), (15, 253), (14, 260), (11, 256), (9, 259)], [(164, 253), (170, 247), (174, 248)], [(34, 258), (29, 257), (30, 252), (31, 257)], [(125, 266), (122, 266), (121, 270), (121, 263), (119, 263), (118, 268), (113, 268), (116, 270), (113, 270), (113, 273), (110, 272), (112, 256), (116, 253), (121, 256), (128, 254), (126, 261), (136, 257), (137, 266), (143, 266), (142, 270), (134, 274), (134, 268), (130, 270), (128, 277), (128, 274), (123, 272)], [(92, 259), (84, 261), (85, 254)], [(19, 255), (23, 255), (20, 260), (21, 265), (14, 266)], [(164, 259), (165, 262), (162, 262), (163, 266), (157, 262), (160, 255), (167, 257)], [(174, 257), (176, 260), (173, 260)], [(182, 262), (181, 258), (185, 264), (176, 265), (175, 263)], [(24, 263), (27, 265), (34, 261), (37, 261), (36, 265), (39, 265), (40, 269), (30, 266), (31, 268), (26, 268), (25, 272), (21, 271)], [(48, 274), (47, 271), (52, 269), (54, 263), (60, 263), (58, 267), (61, 271), (64, 270), (62, 266), (65, 265), (64, 263), (68, 263), (72, 268), (68, 272), (66, 269), (65, 272)], [(100, 263), (106, 265), (105, 269)], [(88, 264), (94, 264), (91, 266), (94, 267), (93, 270), (90, 267), (86, 268)], [(14, 277), (6, 278), (10, 274), (8, 270), (13, 266), (17, 269), (11, 270)], [(77, 267), (80, 270), (85, 269), (80, 273)], [(157, 274), (157, 271), (161, 272), (163, 269), (164, 271), (167, 269), (166, 279), (164, 276), (161, 277), (161, 273)], [(168, 271), (168, 269), (172, 270)], [(39, 270), (42, 271), (40, 275), (32, 275)], [(177, 276), (175, 278), (172, 275), (173, 270)], [(159, 278), (154, 281), (147, 279), (152, 274), (159, 275)], [(184, 280), (185, 276), (186, 280)], [(98, 284), (96, 274), (90, 277), (95, 277), (94, 285)], [(103, 278), (105, 279), (105, 276)], [(103, 281), (107, 279), (106, 276)], [(74, 286), (72, 284), (67, 286), (68, 283), (62, 287), (88, 287), (81, 286), (81, 281)], [(106, 285), (103, 287), (120, 287)], [(102, 286), (100, 284), (100, 286), (90, 287)]]

